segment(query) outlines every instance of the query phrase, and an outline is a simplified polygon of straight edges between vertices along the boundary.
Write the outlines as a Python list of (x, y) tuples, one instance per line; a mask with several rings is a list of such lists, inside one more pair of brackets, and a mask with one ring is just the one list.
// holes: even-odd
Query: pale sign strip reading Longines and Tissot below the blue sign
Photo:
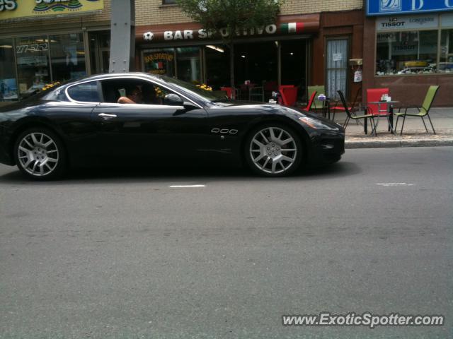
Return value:
[(376, 19), (376, 30), (420, 30), (425, 28), (437, 28), (439, 16), (426, 14), (423, 16), (389, 16)]

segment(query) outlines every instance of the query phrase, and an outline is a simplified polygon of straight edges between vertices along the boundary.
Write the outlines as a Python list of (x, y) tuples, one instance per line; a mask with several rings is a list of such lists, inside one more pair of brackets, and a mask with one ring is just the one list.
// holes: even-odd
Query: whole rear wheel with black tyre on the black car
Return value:
[(19, 134), (13, 152), (17, 167), (35, 180), (57, 179), (66, 169), (66, 151), (61, 139), (44, 127)]

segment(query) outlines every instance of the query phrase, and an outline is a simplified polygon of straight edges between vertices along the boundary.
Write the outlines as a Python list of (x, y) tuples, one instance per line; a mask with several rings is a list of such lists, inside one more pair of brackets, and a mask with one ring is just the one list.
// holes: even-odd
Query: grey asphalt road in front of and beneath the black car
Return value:
[[(452, 147), (384, 148), (287, 179), (50, 183), (0, 165), (0, 338), (452, 338), (452, 164)], [(446, 324), (282, 326), (321, 311)]]

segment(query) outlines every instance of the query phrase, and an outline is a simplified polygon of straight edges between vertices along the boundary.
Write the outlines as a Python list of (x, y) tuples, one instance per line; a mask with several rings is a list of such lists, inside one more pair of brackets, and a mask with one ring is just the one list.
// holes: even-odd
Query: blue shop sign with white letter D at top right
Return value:
[(367, 0), (367, 16), (453, 11), (453, 0)]

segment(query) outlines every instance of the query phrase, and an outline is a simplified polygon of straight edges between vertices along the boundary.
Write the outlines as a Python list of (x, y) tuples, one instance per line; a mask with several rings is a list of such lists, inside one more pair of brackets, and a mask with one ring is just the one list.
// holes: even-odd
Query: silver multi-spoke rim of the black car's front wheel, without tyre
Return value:
[(266, 127), (251, 139), (250, 156), (261, 171), (280, 174), (296, 161), (297, 143), (285, 129)]

